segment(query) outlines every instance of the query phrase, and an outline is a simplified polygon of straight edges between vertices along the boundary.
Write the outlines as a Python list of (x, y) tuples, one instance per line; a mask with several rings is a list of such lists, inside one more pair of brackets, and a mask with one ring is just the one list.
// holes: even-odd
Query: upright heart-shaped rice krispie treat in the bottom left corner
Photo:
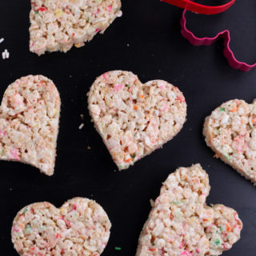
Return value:
[(37, 202), (20, 210), (11, 230), (22, 256), (99, 256), (110, 238), (111, 223), (98, 203), (73, 198), (58, 209)]

